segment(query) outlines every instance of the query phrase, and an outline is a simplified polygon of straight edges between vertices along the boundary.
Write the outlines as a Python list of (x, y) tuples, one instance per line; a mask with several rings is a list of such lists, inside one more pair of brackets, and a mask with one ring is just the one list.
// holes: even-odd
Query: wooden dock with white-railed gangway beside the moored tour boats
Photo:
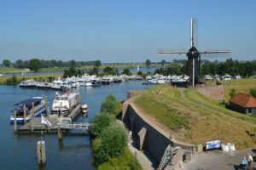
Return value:
[[(47, 120), (51, 123), (51, 126), (42, 124), (41, 117), (32, 117), (29, 122), (17, 127), (17, 133), (40, 133), (41, 131), (47, 133), (58, 133), (60, 130), (65, 132), (69, 129), (88, 130), (90, 128), (90, 123), (73, 122), (80, 114), (80, 106), (81, 105), (77, 105), (68, 116), (47, 116)], [(60, 123), (61, 118), (71, 119), (72, 122)]]

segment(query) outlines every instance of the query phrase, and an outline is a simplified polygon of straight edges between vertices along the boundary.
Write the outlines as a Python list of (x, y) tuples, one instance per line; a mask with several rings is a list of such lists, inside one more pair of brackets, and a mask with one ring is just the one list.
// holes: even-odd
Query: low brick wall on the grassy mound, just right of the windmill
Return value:
[(224, 86), (203, 86), (197, 88), (198, 92), (206, 95), (208, 98), (223, 100), (224, 99)]

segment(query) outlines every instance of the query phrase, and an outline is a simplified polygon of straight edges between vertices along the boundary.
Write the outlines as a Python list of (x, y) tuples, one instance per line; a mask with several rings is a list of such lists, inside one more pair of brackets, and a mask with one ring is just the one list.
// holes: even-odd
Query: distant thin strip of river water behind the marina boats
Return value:
[[(139, 71), (143, 72), (154, 72), (156, 69), (159, 69), (160, 67), (144, 67), (140, 68)], [(123, 72), (123, 68), (119, 68), (119, 73)], [(84, 72), (90, 71), (90, 70), (84, 70)], [(102, 70), (101, 70), (102, 71)], [(131, 68), (131, 73), (137, 73), (137, 68)], [(22, 75), (21, 73), (3, 73), (3, 77), (12, 77), (15, 75), (15, 77), (26, 77), (26, 76), (44, 76), (44, 75), (62, 75), (63, 71), (47, 71), (47, 72), (27, 72), (26, 75)]]

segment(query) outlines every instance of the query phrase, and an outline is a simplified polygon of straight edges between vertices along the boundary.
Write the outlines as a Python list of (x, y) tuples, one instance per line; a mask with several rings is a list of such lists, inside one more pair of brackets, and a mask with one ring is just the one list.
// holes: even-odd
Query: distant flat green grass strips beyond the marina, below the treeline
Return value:
[[(100, 69), (104, 69), (106, 66), (110, 66), (113, 67), (113, 65), (101, 65), (99, 68)], [(161, 66), (160, 64), (151, 64), (150, 67), (157, 67), (157, 66)], [(94, 67), (94, 65), (86, 65), (86, 66), (82, 66), (81, 69), (82, 70), (92, 70)], [(147, 67), (146, 65), (140, 65), (140, 68), (143, 67)], [(114, 65), (114, 68), (137, 68), (137, 64), (125, 64), (125, 65)], [(43, 68), (43, 69), (39, 69), (38, 72), (54, 72), (54, 71), (65, 71), (68, 70), (69, 67), (58, 67), (58, 68)], [(16, 68), (0, 68), (0, 73), (20, 73), (22, 72), (22, 69), (16, 69)]]

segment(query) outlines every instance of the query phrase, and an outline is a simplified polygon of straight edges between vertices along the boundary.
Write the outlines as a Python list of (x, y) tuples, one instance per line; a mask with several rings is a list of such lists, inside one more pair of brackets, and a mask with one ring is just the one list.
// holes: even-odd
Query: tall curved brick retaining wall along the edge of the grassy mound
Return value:
[[(147, 151), (155, 161), (160, 163), (168, 144), (171, 144), (173, 147), (180, 146), (183, 150), (195, 149), (195, 145), (193, 144), (185, 144), (176, 139), (169, 139), (170, 134), (154, 125), (153, 122), (137, 109), (132, 101), (133, 99), (128, 99), (123, 104), (123, 122), (131, 130), (132, 138), (137, 141), (137, 146)], [(146, 129), (146, 133), (145, 135), (140, 135), (140, 131), (143, 128)], [(143, 129), (143, 132), (145, 132), (145, 129)]]

